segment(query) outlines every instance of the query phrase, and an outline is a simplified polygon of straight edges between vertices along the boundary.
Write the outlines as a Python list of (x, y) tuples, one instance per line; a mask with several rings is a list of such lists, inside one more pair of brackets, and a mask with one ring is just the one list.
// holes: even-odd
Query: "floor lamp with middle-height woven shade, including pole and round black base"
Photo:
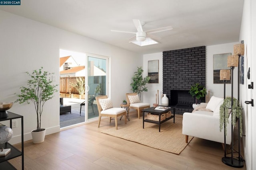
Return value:
[[(230, 67), (230, 69), (231, 69), (231, 108), (233, 106), (234, 68), (238, 67), (238, 63), (239, 63), (238, 61), (239, 61), (238, 55), (229, 55), (228, 56), (228, 67)], [(232, 111), (231, 111), (231, 114), (233, 114)], [(226, 143), (224, 145), (226, 145)], [(234, 159), (233, 153), (234, 153), (234, 134), (233, 134), (233, 124), (231, 123), (231, 157), (224, 156), (222, 158), (222, 162), (224, 164), (226, 164), (228, 166), (232, 166), (234, 168), (244, 167), (243, 162), (241, 162), (238, 159)]]

